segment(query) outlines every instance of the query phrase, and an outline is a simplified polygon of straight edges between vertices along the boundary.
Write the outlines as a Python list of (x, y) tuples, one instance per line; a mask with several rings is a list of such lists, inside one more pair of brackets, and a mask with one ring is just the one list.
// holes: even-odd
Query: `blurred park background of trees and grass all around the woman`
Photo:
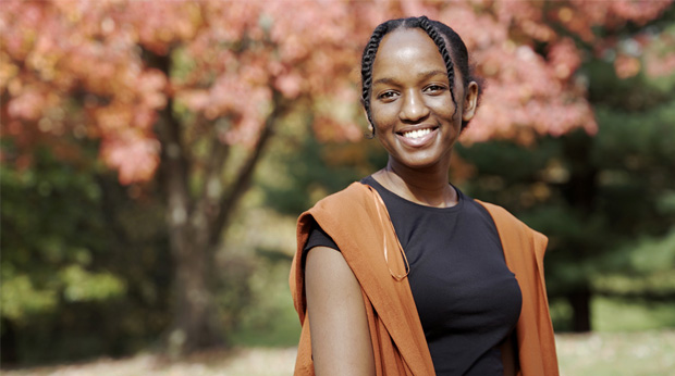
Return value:
[(385, 164), (360, 52), (421, 14), (486, 84), (453, 184), (550, 238), (563, 374), (674, 369), (673, 1), (1, 10), (8, 375), (290, 374), (295, 220)]

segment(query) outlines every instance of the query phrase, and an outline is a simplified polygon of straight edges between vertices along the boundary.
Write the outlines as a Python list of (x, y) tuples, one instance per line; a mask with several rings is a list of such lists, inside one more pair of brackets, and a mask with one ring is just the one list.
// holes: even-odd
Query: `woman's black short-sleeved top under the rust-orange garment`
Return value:
[[(496, 347), (518, 321), (521, 296), (490, 213), (456, 188), (455, 206), (432, 208), (371, 176), (361, 183), (382, 197), (410, 264), (408, 281), (437, 374), (503, 375)], [(338, 249), (315, 223), (304, 253), (317, 246)]]

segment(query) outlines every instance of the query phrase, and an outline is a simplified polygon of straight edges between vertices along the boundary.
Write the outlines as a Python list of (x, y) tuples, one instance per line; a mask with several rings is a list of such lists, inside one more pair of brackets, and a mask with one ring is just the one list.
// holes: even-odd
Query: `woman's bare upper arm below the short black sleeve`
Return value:
[(373, 375), (368, 317), (358, 280), (342, 253), (315, 247), (305, 263), (305, 292), (317, 375)]

